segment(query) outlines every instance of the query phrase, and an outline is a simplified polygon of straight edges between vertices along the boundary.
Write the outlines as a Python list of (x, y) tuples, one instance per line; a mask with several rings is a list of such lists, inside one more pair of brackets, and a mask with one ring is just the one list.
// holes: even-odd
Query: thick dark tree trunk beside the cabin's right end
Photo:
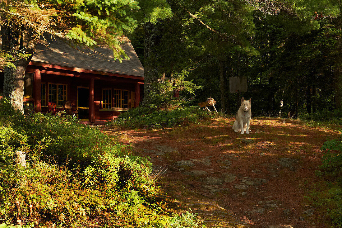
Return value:
[(145, 47), (144, 47), (144, 62), (145, 62), (145, 80), (144, 80), (144, 99), (143, 106), (149, 105), (151, 100), (151, 93), (158, 92), (154, 83), (160, 81), (157, 64), (151, 61), (151, 58), (156, 58), (155, 46), (159, 43), (159, 35), (157, 25), (150, 22), (144, 24), (145, 32)]

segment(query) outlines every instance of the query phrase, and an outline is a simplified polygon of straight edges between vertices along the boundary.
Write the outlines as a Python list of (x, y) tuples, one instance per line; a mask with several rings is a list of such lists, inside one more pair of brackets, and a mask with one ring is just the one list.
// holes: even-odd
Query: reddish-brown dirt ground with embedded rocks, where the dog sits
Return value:
[[(147, 155), (168, 200), (207, 227), (330, 227), (304, 196), (321, 181), (322, 144), (339, 132), (284, 119), (253, 118), (250, 134), (234, 118), (161, 130), (102, 127)], [(176, 208), (177, 209), (177, 208)]]

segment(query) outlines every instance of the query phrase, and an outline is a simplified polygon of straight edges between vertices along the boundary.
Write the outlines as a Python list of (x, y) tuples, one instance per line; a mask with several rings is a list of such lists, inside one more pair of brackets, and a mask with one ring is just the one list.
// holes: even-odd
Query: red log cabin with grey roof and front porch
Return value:
[[(130, 43), (121, 48), (129, 59), (120, 63), (108, 48), (76, 49), (59, 38), (39, 44), (25, 73), (24, 105), (48, 112), (52, 102), (60, 111), (67, 100), (81, 121), (95, 124), (139, 106), (144, 68)], [(0, 94), (2, 88), (0, 79)]]

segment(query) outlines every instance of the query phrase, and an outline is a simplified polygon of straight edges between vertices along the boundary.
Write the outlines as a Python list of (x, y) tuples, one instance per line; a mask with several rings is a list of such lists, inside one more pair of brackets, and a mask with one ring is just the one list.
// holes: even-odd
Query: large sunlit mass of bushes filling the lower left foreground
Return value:
[[(13, 164), (16, 151), (26, 167)], [(25, 117), (1, 99), (0, 227), (198, 227), (195, 214), (156, 202), (151, 164), (132, 153), (71, 116)]]

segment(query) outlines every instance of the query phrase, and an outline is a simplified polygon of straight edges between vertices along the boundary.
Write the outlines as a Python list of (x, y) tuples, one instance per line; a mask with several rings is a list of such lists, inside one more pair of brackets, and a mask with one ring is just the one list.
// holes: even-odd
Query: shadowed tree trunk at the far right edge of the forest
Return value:
[[(342, 27), (342, 17), (338, 16), (333, 19), (335, 28), (341, 30)], [(335, 90), (335, 107), (340, 108), (342, 106), (342, 40), (340, 36), (337, 38), (336, 42), (337, 56), (335, 58), (334, 66), (334, 90)]]

